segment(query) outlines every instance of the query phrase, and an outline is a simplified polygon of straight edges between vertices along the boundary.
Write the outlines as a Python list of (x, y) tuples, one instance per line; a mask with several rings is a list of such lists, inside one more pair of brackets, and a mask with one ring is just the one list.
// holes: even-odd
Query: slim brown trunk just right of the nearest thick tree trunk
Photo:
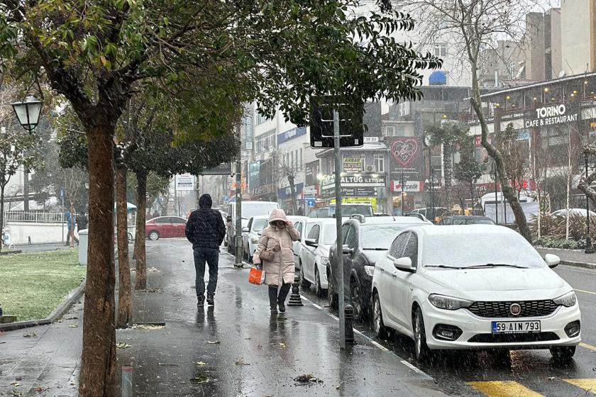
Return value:
[(131, 320), (131, 265), (128, 262), (128, 208), (126, 167), (116, 168), (116, 218), (118, 220), (118, 320), (116, 328), (127, 328)]

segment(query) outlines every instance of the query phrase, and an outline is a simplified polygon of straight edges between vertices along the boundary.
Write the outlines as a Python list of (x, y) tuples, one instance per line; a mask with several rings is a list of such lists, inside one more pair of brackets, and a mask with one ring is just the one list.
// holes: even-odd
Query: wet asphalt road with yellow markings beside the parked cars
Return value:
[[(555, 271), (575, 289), (582, 311), (583, 342), (569, 364), (553, 362), (548, 350), (514, 351), (508, 356), (447, 352), (421, 363), (414, 359), (414, 343), (408, 337), (398, 334), (377, 342), (432, 376), (451, 396), (596, 396), (596, 271), (567, 266)], [(329, 310), (326, 298), (316, 297), (314, 290), (301, 293)], [(374, 338), (368, 323), (356, 322), (355, 328)]]

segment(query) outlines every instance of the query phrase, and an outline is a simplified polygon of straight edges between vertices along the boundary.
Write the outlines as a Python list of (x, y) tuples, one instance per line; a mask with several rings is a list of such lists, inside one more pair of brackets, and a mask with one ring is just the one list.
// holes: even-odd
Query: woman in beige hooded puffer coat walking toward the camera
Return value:
[[(253, 255), (254, 264), (263, 264), (265, 284), (269, 286), (269, 306), (272, 314), (285, 312), (285, 298), (289, 286), (294, 282), (294, 252), (292, 242), (299, 240), (300, 234), (288, 220), (285, 212), (275, 209), (269, 217), (269, 225), (263, 230), (259, 245)], [(272, 256), (270, 260), (263, 257)], [(268, 254), (268, 255), (267, 255)]]

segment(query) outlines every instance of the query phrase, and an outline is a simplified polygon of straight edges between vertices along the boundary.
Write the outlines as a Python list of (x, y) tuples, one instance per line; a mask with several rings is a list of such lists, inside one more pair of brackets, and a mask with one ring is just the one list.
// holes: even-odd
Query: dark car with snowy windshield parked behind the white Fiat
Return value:
[[(371, 291), (375, 263), (385, 256), (391, 243), (402, 230), (413, 226), (429, 225), (413, 216), (382, 216), (365, 218), (355, 216), (341, 226), (343, 245), (343, 286), (346, 301), (354, 307), (354, 316), (364, 320), (370, 318), (372, 308)], [(433, 228), (435, 226), (429, 225)], [(327, 280), (329, 283), (329, 306), (337, 308), (337, 264), (336, 245), (329, 252)], [(347, 297), (350, 298), (347, 298)]]

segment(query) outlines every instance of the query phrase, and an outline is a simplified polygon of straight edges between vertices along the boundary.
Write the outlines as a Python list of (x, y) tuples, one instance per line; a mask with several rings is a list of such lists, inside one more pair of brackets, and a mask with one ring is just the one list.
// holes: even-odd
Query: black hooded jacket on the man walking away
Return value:
[(192, 211), (188, 218), (185, 233), (193, 249), (219, 249), (226, 236), (226, 225), (223, 224), (221, 213), (211, 209), (212, 204), (211, 196), (203, 194), (199, 198), (199, 209)]

